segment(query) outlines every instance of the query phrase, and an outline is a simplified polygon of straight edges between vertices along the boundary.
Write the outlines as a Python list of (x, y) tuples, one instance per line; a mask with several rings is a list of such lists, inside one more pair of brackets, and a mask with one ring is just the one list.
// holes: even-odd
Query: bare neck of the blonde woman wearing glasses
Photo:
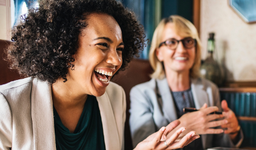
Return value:
[(166, 70), (166, 79), (171, 91), (178, 92), (190, 88), (189, 70), (181, 72)]

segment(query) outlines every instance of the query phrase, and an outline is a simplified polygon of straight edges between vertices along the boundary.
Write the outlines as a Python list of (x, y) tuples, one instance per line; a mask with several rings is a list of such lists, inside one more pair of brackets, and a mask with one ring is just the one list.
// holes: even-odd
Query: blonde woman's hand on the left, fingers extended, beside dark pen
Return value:
[(223, 114), (210, 114), (215, 111), (218, 111), (218, 108), (216, 106), (207, 108), (207, 104), (204, 104), (203, 107), (200, 109), (200, 111), (195, 111), (193, 113), (186, 113), (183, 116), (181, 116), (181, 118), (179, 118), (179, 121), (181, 121), (180, 126), (186, 126), (187, 132), (196, 131), (197, 134), (223, 133), (223, 129), (213, 129), (213, 128), (227, 124), (228, 120), (221, 119), (218, 121), (213, 121), (215, 119), (220, 119), (224, 117)]

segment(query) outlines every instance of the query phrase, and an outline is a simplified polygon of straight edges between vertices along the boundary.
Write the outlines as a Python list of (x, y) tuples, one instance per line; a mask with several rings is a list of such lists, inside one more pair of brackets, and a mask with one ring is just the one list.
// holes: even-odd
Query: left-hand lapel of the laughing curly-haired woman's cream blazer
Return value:
[(56, 149), (51, 86), (33, 80), (31, 91), (31, 117), (35, 149)]

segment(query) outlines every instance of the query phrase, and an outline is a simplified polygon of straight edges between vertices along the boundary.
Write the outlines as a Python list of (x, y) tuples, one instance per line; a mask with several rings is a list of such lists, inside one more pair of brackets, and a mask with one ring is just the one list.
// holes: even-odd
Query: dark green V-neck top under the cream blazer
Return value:
[(88, 95), (74, 133), (70, 133), (53, 107), (56, 149), (105, 150), (104, 133), (99, 104), (95, 96)]

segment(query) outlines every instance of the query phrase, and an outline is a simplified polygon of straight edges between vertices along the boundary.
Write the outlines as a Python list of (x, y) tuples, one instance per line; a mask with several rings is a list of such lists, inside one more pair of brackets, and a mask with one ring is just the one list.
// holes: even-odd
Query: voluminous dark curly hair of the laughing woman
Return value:
[(68, 68), (73, 68), (73, 54), (78, 49), (78, 36), (87, 27), (92, 13), (113, 16), (122, 30), (125, 44), (122, 66), (139, 56), (146, 43), (144, 29), (133, 12), (115, 0), (45, 0), (38, 9), (12, 31), (13, 42), (6, 53), (11, 69), (53, 84), (58, 78), (67, 81)]

